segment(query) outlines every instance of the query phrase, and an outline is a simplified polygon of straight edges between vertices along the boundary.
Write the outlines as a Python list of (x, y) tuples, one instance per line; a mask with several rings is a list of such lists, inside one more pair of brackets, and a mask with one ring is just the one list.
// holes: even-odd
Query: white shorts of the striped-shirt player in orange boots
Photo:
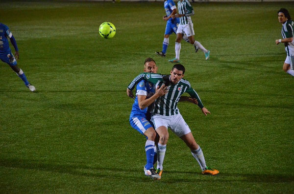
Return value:
[(161, 126), (164, 126), (166, 128), (170, 128), (172, 132), (178, 137), (191, 132), (191, 129), (180, 113), (172, 116), (155, 114), (152, 116), (151, 121), (154, 124), (155, 130)]

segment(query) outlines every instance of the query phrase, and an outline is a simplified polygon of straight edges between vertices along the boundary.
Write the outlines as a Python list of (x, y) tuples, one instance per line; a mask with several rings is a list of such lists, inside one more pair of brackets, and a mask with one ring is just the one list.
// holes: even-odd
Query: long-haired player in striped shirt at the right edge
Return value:
[(286, 73), (294, 76), (294, 21), (287, 9), (281, 8), (278, 11), (279, 22), (283, 24), (282, 37), (275, 41), (276, 44), (284, 43), (287, 53), (286, 60), (283, 65), (283, 70)]

